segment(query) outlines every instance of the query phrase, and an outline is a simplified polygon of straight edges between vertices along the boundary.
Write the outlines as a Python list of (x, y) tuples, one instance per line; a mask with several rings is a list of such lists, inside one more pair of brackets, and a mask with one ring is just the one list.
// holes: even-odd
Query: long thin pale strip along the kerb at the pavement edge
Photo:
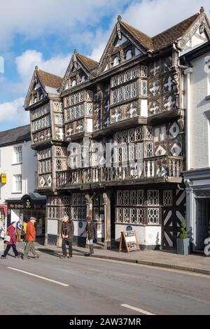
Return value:
[[(73, 255), (73, 257), (85, 258), (85, 259), (88, 258), (88, 257), (84, 257), (83, 255)], [(88, 260), (90, 260), (90, 258), (88, 258)], [(209, 274), (202, 274), (202, 273), (196, 273), (196, 272), (190, 272), (190, 271), (188, 272), (188, 271), (184, 271), (182, 269), (171, 269), (171, 268), (167, 268), (167, 267), (144, 265), (144, 264), (140, 264), (140, 263), (136, 263), (136, 262), (124, 262), (122, 260), (111, 260), (111, 259), (97, 258), (97, 257), (92, 257), (91, 260), (103, 260), (105, 262), (117, 262), (117, 263), (123, 264), (123, 265), (126, 264), (126, 265), (129, 265), (129, 266), (146, 267), (146, 268), (149, 268), (149, 269), (158, 269), (159, 271), (166, 271), (166, 272), (172, 272), (172, 273), (178, 273), (178, 274), (186, 274), (186, 275), (190, 275), (190, 276), (199, 276), (199, 277), (202, 277), (202, 278), (210, 279)]]

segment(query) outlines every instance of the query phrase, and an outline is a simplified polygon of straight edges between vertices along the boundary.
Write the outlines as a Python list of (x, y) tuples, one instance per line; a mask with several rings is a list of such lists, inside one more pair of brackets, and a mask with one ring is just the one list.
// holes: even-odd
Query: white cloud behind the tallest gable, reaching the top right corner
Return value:
[[(123, 13), (118, 14), (123, 16), (123, 22), (127, 22), (149, 36), (155, 36), (191, 15), (199, 13), (201, 6), (206, 8), (208, 15), (209, 0), (133, 0)], [(108, 31), (96, 32), (92, 58), (97, 60), (101, 58), (115, 23), (116, 17), (113, 18)]]

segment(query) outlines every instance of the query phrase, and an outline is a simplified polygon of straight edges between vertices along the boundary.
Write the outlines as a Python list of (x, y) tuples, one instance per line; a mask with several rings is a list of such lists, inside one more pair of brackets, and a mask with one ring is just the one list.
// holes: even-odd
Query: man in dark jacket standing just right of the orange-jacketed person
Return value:
[[(62, 252), (63, 255), (60, 258), (71, 258), (72, 257), (72, 241), (73, 241), (73, 221), (69, 216), (64, 216), (62, 220)], [(69, 255), (66, 252), (66, 244), (69, 245)]]

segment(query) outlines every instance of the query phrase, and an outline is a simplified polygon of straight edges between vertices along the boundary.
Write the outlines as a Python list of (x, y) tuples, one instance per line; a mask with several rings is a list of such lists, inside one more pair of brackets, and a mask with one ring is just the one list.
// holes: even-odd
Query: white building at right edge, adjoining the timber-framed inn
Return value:
[(181, 57), (185, 69), (187, 226), (193, 249), (204, 248), (210, 222), (210, 42)]

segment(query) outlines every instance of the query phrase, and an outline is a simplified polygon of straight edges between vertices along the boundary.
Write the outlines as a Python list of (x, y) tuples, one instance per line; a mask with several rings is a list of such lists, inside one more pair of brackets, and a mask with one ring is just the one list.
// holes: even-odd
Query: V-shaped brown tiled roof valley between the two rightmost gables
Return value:
[(153, 36), (152, 38), (139, 31), (138, 29), (131, 27), (125, 22), (121, 22), (120, 24), (122, 24), (123, 27), (130, 31), (130, 33), (133, 34), (137, 38), (137, 40), (139, 40), (139, 42), (144, 45), (145, 48), (160, 50), (162, 48), (167, 47), (167, 45), (174, 43), (174, 41), (183, 36), (183, 34), (185, 34), (186, 31), (190, 28), (190, 25), (192, 25), (193, 22), (197, 20), (199, 15), (200, 14), (197, 13), (191, 16), (190, 18), (183, 20), (183, 22), (180, 22), (179, 24), (176, 24), (173, 27), (162, 31), (160, 34)]

